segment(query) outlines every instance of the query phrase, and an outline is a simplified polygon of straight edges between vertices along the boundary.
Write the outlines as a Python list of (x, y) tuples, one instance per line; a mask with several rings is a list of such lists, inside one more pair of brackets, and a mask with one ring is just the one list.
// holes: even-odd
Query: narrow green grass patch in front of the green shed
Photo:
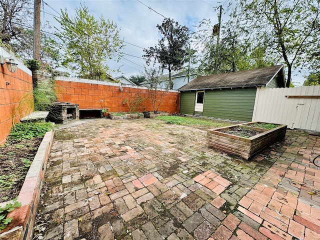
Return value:
[(177, 124), (183, 126), (192, 126), (200, 129), (210, 129), (215, 127), (229, 126), (234, 122), (208, 119), (208, 118), (196, 118), (188, 116), (157, 116), (156, 119), (164, 121), (166, 124)]

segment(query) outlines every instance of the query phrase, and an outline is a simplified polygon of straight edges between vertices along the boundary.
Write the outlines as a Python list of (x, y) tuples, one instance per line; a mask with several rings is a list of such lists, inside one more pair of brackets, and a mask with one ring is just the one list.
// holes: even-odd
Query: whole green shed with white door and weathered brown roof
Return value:
[(198, 76), (178, 89), (180, 113), (250, 121), (257, 87), (285, 87), (283, 65)]

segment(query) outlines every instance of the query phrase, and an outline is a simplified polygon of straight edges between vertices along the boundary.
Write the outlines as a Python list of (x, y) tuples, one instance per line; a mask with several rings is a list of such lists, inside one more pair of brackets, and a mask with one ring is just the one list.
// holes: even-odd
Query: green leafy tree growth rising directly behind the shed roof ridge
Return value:
[(221, 27), (221, 39), (212, 34), (210, 19), (203, 19), (199, 30), (194, 34), (198, 51), (198, 74), (210, 75), (230, 71), (246, 70), (272, 65), (265, 56), (265, 47), (251, 49), (243, 32), (233, 28), (230, 23)]

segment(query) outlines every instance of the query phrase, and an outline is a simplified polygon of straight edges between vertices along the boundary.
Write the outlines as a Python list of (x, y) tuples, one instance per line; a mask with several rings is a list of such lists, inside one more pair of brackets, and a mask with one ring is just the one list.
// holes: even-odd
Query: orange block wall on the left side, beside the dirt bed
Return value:
[[(18, 63), (16, 72), (0, 64), (0, 145), (4, 144), (13, 122), (33, 111), (32, 75)], [(9, 84), (6, 84), (8, 82)]]

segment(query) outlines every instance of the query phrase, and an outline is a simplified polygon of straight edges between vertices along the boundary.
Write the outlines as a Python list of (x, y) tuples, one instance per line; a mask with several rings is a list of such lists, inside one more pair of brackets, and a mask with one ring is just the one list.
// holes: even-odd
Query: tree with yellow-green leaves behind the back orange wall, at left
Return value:
[(103, 16), (94, 19), (83, 4), (75, 11), (75, 16), (69, 17), (67, 10), (61, 9), (62, 17), (55, 18), (61, 24), (61, 31), (56, 34), (64, 52), (62, 65), (74, 70), (80, 77), (106, 80), (107, 72), (113, 71), (108, 67), (107, 60), (118, 61), (124, 46), (119, 29)]

